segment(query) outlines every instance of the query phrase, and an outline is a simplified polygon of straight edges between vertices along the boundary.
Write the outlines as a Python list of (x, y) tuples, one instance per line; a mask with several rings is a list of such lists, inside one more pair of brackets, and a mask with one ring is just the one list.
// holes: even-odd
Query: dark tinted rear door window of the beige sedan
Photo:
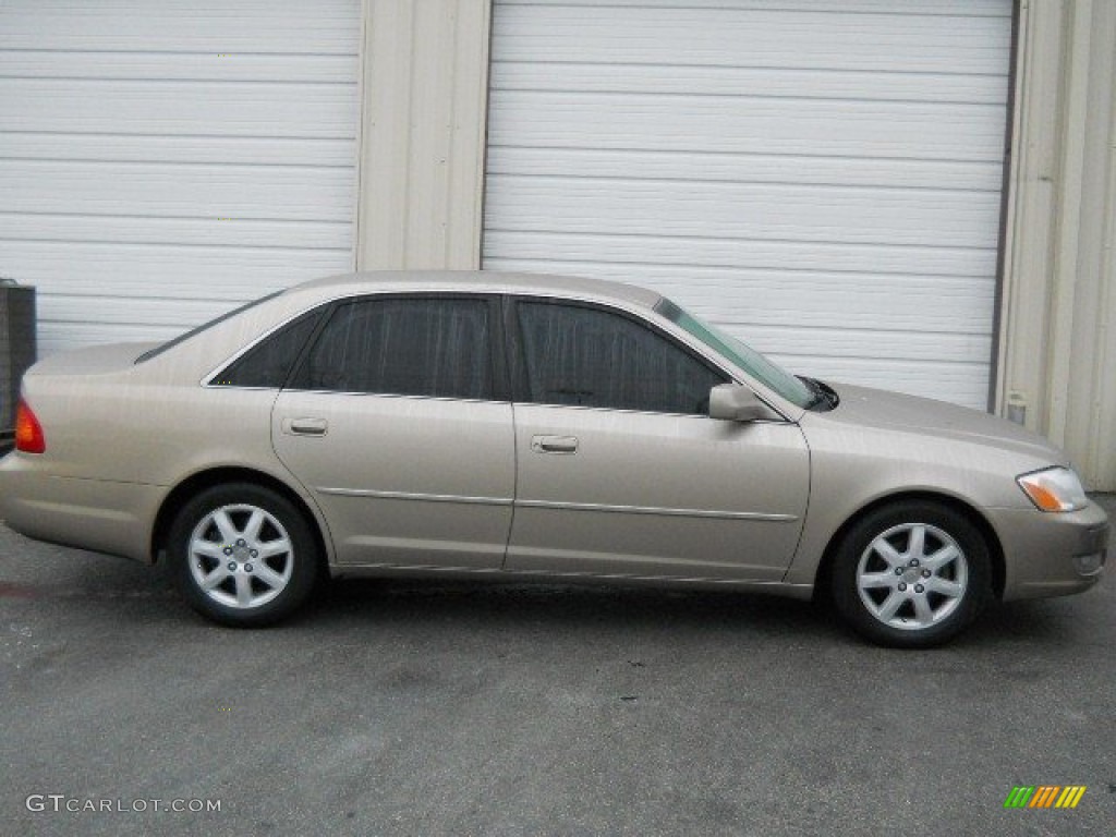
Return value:
[(337, 307), (296, 375), (306, 389), (492, 397), (489, 304), (366, 299)]

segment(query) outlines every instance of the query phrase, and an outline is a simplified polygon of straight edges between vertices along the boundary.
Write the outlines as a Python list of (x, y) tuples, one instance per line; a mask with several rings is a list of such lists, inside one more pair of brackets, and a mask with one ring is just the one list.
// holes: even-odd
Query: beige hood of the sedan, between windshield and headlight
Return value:
[(1043, 436), (988, 413), (865, 386), (831, 386), (840, 403), (828, 413), (814, 415), (858, 427), (973, 442), (1033, 456), (1046, 464), (1067, 464), (1066, 455)]

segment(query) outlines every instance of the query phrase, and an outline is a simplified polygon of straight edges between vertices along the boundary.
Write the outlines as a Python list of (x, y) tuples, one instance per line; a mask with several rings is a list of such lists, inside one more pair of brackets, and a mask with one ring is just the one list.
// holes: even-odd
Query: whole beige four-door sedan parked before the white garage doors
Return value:
[(907, 647), (1087, 589), (1108, 528), (1013, 424), (793, 376), (650, 290), (488, 272), (336, 277), (47, 358), (0, 516), (165, 558), (229, 625), (329, 575), (568, 579), (825, 596)]

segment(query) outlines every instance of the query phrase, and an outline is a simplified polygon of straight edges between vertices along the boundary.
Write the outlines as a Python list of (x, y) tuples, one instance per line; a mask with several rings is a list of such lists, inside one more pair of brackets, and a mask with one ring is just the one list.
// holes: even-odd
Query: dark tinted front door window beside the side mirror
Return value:
[(651, 328), (597, 308), (519, 302), (527, 384), (540, 404), (709, 412), (725, 379)]

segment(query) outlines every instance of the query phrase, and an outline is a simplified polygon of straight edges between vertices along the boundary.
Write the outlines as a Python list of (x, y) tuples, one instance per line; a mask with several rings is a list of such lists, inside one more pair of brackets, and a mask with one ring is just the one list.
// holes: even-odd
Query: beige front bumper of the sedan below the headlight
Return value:
[(1067, 596), (1100, 580), (1108, 516), (1095, 502), (1067, 513), (991, 509), (1004, 557), (1003, 600)]

